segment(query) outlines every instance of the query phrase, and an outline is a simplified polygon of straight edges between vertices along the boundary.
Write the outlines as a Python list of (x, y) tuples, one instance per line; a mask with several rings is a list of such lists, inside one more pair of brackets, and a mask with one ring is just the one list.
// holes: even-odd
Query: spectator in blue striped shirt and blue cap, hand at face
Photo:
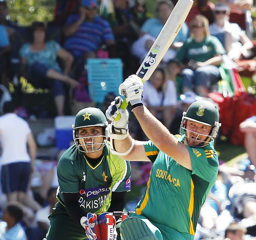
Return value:
[(64, 48), (75, 58), (95, 58), (104, 44), (115, 44), (109, 22), (97, 16), (96, 0), (82, 0), (80, 14), (70, 15), (64, 27)]

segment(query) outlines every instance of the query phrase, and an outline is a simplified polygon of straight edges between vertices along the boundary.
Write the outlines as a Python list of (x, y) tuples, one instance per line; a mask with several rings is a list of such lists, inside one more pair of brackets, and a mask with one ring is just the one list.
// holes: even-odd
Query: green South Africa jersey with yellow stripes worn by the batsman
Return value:
[[(184, 142), (184, 135), (175, 137)], [(184, 234), (185, 239), (193, 239), (200, 208), (217, 178), (219, 162), (213, 142), (202, 148), (187, 147), (192, 171), (158, 150), (151, 141), (145, 142), (144, 147), (154, 164), (136, 214), (149, 219), (166, 240), (173, 239), (168, 228)]]

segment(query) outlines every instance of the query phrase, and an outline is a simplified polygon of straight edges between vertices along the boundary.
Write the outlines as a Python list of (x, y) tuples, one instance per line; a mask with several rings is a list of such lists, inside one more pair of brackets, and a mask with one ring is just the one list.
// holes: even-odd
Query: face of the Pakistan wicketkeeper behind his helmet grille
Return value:
[(102, 148), (104, 140), (101, 126), (78, 128), (78, 141), (85, 152), (96, 152)]

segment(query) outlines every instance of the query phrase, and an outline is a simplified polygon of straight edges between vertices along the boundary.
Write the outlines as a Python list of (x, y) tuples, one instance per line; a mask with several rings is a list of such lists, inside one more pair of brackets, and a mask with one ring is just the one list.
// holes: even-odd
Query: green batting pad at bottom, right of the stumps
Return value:
[(149, 227), (136, 217), (126, 218), (120, 226), (122, 240), (158, 240)]

